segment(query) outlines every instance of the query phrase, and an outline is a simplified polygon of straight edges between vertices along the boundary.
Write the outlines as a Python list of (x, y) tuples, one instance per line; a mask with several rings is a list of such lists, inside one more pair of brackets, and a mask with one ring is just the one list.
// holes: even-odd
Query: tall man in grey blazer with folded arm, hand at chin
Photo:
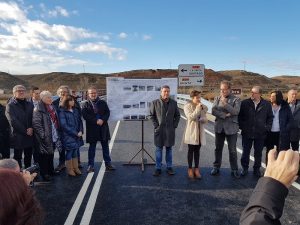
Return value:
[(240, 112), (241, 101), (231, 94), (231, 84), (229, 81), (222, 81), (220, 85), (221, 94), (215, 98), (212, 114), (216, 117), (215, 121), (215, 162), (211, 171), (212, 176), (220, 174), (222, 164), (222, 152), (225, 138), (228, 142), (229, 160), (231, 175), (239, 178), (237, 164), (237, 132), (239, 131), (238, 115)]

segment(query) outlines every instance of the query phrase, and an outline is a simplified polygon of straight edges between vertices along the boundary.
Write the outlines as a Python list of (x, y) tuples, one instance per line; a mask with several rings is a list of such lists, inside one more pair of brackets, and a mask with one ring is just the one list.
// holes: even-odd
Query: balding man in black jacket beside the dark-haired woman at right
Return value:
[(261, 97), (261, 87), (251, 89), (251, 97), (241, 103), (239, 126), (242, 130), (243, 154), (241, 175), (246, 176), (249, 168), (249, 157), (254, 144), (253, 174), (261, 176), (261, 158), (267, 132), (271, 130), (273, 122), (272, 106)]

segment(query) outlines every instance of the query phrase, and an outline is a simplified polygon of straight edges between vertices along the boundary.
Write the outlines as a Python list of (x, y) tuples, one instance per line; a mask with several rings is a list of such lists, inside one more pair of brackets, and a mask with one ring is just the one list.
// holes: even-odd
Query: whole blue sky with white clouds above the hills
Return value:
[(0, 0), (0, 70), (300, 75), (297, 0)]

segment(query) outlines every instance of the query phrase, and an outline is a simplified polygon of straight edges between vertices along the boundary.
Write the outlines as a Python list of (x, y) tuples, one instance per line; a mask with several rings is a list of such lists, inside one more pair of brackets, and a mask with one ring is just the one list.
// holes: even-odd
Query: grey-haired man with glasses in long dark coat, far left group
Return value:
[(24, 152), (25, 168), (31, 166), (33, 128), (33, 105), (25, 98), (26, 88), (23, 85), (13, 87), (14, 97), (6, 106), (6, 117), (10, 124), (12, 137), (11, 146), (14, 148), (14, 159), (22, 168), (22, 154)]

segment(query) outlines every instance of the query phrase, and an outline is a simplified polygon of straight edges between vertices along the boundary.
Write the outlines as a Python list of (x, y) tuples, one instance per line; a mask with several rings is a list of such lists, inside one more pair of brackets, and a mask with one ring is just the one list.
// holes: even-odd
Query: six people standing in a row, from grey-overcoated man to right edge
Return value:
[[(201, 93), (192, 91), (191, 100), (184, 105), (187, 118), (184, 143), (188, 145), (188, 177), (201, 179), (199, 170), (200, 148), (205, 145), (204, 126), (207, 106), (201, 103)], [(214, 100), (212, 115), (215, 116), (215, 161), (212, 176), (220, 174), (222, 152), (225, 139), (228, 144), (231, 175), (235, 178), (246, 176), (249, 168), (249, 158), (254, 147), (253, 174), (261, 177), (262, 152), (266, 146), (266, 163), (268, 152), (276, 148), (282, 151), (292, 148), (299, 150), (300, 139), (300, 101), (297, 100), (297, 90), (291, 89), (284, 100), (281, 91), (273, 91), (270, 101), (262, 98), (262, 88), (254, 86), (251, 96), (243, 101), (231, 93), (229, 81), (220, 83), (220, 95)], [(159, 99), (153, 101), (150, 109), (150, 119), (154, 126), (154, 144), (156, 146), (156, 168), (154, 176), (161, 174), (162, 149), (166, 148), (167, 173), (174, 175), (172, 168), (172, 146), (175, 143), (175, 129), (180, 120), (176, 101), (170, 98), (169, 86), (163, 86)], [(237, 137), (241, 130), (243, 153), (241, 157), (242, 170), (238, 169)], [(194, 166), (193, 166), (194, 162)]]

